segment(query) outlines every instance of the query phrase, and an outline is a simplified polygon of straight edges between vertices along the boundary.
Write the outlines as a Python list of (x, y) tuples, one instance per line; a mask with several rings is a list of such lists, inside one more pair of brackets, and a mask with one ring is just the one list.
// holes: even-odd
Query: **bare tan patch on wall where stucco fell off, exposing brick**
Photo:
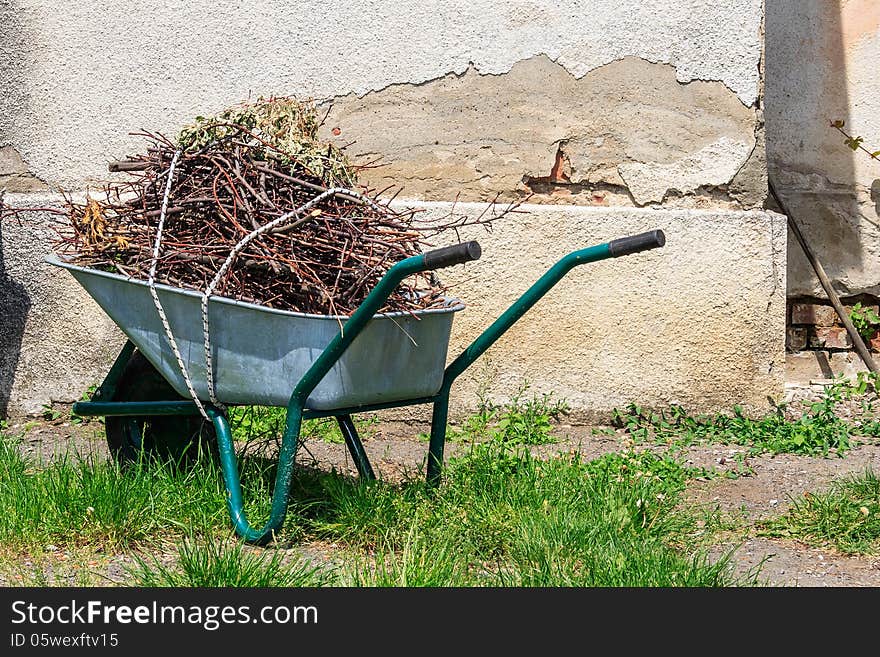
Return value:
[(636, 57), (576, 78), (541, 55), (504, 75), (469, 69), (328, 109), (324, 137), (354, 142), (356, 161), (378, 159), (373, 186), (422, 198), (760, 207), (766, 196), (761, 175), (737, 179), (756, 150), (756, 110), (720, 82), (682, 84), (673, 67)]

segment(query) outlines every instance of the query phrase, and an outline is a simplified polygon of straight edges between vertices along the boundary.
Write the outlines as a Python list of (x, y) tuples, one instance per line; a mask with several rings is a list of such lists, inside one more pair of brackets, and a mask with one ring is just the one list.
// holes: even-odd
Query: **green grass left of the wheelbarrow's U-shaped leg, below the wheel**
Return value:
[[(24, 457), (16, 438), (0, 434), (0, 541), (128, 549), (176, 538), (193, 526), (228, 528), (225, 489), (210, 462), (184, 471), (171, 464), (115, 463), (69, 455), (49, 463)], [(244, 469), (249, 512), (264, 513), (270, 469)]]

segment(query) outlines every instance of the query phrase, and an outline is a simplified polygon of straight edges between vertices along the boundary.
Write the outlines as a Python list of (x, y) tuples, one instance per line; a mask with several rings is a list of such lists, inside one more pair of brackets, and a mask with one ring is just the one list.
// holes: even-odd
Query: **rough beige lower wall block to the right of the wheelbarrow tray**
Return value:
[[(448, 204), (422, 204), (443, 215)], [(481, 204), (456, 211), (478, 214)], [(666, 245), (576, 267), (453, 387), (474, 408), (483, 386), (504, 401), (524, 381), (575, 417), (608, 418), (629, 402), (711, 411), (781, 398), (785, 349), (785, 217), (772, 212), (528, 205), (491, 233), (472, 228), (480, 260), (441, 272), (467, 307), (456, 356), (562, 256), (659, 228)], [(706, 230), (711, 225), (711, 231)], [(540, 235), (541, 239), (535, 239)], [(438, 244), (439, 245), (439, 244)], [(733, 401), (738, 400), (738, 401)]]

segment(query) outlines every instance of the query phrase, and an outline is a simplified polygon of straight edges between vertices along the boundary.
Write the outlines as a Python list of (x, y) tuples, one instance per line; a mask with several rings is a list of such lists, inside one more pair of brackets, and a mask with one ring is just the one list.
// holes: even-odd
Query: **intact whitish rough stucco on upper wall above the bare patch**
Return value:
[(51, 184), (79, 186), (136, 152), (130, 132), (173, 135), (249, 96), (363, 95), (469, 67), (503, 74), (539, 54), (575, 78), (626, 57), (662, 62), (680, 81), (721, 81), (751, 107), (762, 6), (84, 0), (59, 12), (55, 2), (17, 0), (0, 5), (0, 56), (13, 63), (0, 72), (0, 143)]

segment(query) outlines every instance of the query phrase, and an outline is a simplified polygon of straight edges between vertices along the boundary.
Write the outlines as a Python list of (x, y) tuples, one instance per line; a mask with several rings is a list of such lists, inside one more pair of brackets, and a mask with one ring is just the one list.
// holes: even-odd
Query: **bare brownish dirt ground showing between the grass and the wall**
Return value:
[[(843, 412), (846, 412), (845, 410)], [(66, 418), (65, 414), (62, 417)], [(51, 458), (75, 448), (79, 453), (106, 456), (102, 426), (98, 422), (75, 425), (65, 419), (54, 422), (29, 418), (22, 449), (27, 454)], [(23, 428), (25, 420), (11, 423), (10, 429)], [(625, 436), (618, 432), (599, 433), (596, 427), (560, 424), (555, 428), (558, 442), (535, 450), (544, 455), (577, 450), (586, 457), (625, 447)], [(380, 421), (369, 427), (363, 438), (377, 476), (395, 479), (419, 472), (427, 454), (427, 442), (419, 437), (428, 430), (420, 424)], [(448, 443), (446, 455), (454, 455), (462, 447)], [(740, 455), (738, 457), (738, 455)], [(791, 454), (747, 457), (744, 448), (710, 445), (690, 448), (686, 452), (689, 465), (715, 468), (719, 471), (742, 472), (736, 478), (718, 477), (692, 482), (685, 494), (685, 503), (720, 509), (725, 517), (735, 519), (738, 527), (714, 545), (717, 556), (734, 549), (734, 562), (741, 573), (759, 568), (759, 579), (771, 586), (786, 587), (873, 587), (880, 586), (880, 556), (847, 556), (831, 549), (817, 549), (794, 540), (770, 539), (756, 535), (757, 520), (778, 516), (791, 501), (807, 491), (819, 491), (835, 478), (861, 473), (867, 468), (880, 472), (880, 441), (861, 444), (843, 457), (806, 457)], [(336, 468), (356, 474), (354, 464), (344, 445), (308, 440), (300, 450), (298, 462), (321, 468)], [(320, 551), (321, 546), (314, 546)], [(61, 558), (61, 555), (59, 555)], [(88, 564), (101, 571), (106, 583), (125, 583), (127, 555), (103, 555)], [(66, 576), (73, 584), (72, 575)], [(57, 579), (57, 578), (56, 578)], [(8, 580), (8, 578), (7, 578)], [(4, 581), (0, 585), (14, 584)], [(63, 584), (63, 578), (61, 582)]]

